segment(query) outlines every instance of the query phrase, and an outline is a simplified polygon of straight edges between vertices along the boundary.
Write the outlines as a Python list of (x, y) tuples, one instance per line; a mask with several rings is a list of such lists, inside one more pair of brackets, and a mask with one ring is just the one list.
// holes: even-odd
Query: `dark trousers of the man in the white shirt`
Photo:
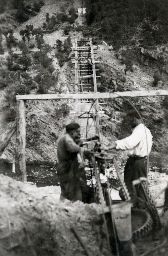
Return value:
[[(129, 157), (124, 169), (124, 181), (129, 191), (131, 200), (134, 206), (138, 208), (146, 208), (146, 199), (140, 184), (132, 185), (133, 180), (137, 180), (140, 177), (147, 177), (147, 159), (140, 157)], [(121, 199), (124, 199), (122, 190), (120, 191)]]

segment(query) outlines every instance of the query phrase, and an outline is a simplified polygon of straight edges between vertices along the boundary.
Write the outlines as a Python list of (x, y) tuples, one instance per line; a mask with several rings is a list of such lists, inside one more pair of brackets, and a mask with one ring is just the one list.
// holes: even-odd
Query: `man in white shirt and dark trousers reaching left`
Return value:
[[(124, 169), (124, 181), (134, 204), (138, 207), (145, 207), (142, 188), (136, 185), (135, 193), (132, 181), (139, 179), (139, 177), (147, 177), (147, 156), (150, 154), (152, 147), (152, 134), (144, 126), (136, 111), (130, 111), (126, 119), (133, 129), (131, 135), (124, 139), (116, 140), (110, 147), (106, 147), (105, 150), (128, 150), (129, 158)], [(123, 199), (121, 191), (120, 196)]]

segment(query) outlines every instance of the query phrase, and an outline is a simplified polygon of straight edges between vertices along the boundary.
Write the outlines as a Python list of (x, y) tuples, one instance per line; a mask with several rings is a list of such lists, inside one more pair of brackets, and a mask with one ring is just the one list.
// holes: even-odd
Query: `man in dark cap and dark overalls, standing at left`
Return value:
[[(66, 133), (58, 142), (58, 176), (60, 179), (60, 199), (79, 200), (84, 203), (92, 202), (92, 191), (87, 186), (84, 173), (84, 156), (81, 153), (83, 141), (80, 139), (80, 125), (66, 125)], [(97, 136), (91, 139), (96, 139)]]

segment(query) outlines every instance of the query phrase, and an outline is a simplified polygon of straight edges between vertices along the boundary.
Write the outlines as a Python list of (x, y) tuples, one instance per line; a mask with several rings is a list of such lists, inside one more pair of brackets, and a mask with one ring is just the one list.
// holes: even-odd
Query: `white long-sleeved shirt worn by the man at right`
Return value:
[(152, 134), (146, 126), (139, 124), (133, 129), (130, 136), (116, 140), (115, 143), (117, 144), (116, 149), (128, 150), (129, 156), (137, 155), (144, 157), (150, 154), (152, 148)]

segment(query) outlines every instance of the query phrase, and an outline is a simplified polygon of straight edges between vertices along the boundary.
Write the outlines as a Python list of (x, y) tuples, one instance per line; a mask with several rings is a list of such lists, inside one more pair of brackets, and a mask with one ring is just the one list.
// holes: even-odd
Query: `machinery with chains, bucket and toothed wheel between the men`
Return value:
[[(106, 185), (101, 184), (100, 169), (102, 164), (105, 167), (113, 164), (125, 202), (113, 200), (113, 193), (108, 186), (108, 180)], [(158, 230), (161, 226), (155, 202), (148, 190), (147, 179), (142, 177), (133, 182), (134, 186), (137, 184), (142, 186), (147, 202), (146, 210), (135, 209), (115, 156), (111, 153), (102, 152), (99, 142), (96, 142), (92, 152), (92, 168), (96, 179), (96, 195), (102, 206), (102, 215), (104, 222), (106, 222), (110, 245), (115, 245), (111, 248), (113, 253), (116, 255), (136, 255), (131, 240), (144, 237), (153, 227)]]

